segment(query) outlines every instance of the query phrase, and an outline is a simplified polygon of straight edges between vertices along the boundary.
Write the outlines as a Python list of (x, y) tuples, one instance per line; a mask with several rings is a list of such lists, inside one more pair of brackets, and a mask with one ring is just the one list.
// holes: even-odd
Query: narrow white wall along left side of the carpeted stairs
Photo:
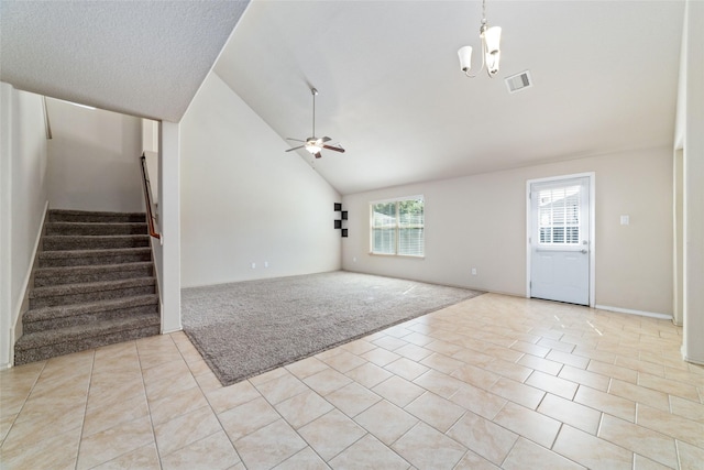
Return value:
[(46, 211), (46, 131), (42, 97), (0, 84), (0, 367), (11, 364)]

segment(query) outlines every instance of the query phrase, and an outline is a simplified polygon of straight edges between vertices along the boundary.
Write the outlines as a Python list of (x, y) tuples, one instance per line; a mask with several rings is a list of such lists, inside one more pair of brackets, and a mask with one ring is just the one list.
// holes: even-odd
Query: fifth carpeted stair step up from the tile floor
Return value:
[(85, 266), (91, 264), (136, 263), (152, 260), (148, 247), (108, 250), (42, 251), (40, 267)]

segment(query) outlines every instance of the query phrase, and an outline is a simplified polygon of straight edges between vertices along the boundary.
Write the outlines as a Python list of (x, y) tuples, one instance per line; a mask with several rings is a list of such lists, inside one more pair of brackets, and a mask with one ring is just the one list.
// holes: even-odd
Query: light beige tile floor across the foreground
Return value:
[(222, 387), (183, 332), (0, 373), (3, 469), (703, 469), (670, 321), (485, 294)]

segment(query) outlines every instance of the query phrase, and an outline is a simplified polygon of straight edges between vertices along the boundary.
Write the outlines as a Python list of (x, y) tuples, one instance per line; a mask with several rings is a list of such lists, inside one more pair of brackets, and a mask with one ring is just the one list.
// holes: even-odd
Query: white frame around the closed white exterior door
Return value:
[(531, 220), (532, 208), (530, 204), (530, 187), (536, 183), (551, 183), (562, 179), (588, 178), (590, 187), (590, 307), (596, 305), (596, 173), (574, 173), (570, 175), (550, 176), (526, 181), (526, 298), (530, 298), (530, 269), (531, 269)]

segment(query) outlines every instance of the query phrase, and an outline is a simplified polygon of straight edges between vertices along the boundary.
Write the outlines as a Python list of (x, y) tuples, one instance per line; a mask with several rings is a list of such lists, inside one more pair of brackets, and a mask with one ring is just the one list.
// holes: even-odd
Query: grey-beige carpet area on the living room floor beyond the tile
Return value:
[(337, 271), (184, 288), (182, 317), (230, 385), (480, 294)]

